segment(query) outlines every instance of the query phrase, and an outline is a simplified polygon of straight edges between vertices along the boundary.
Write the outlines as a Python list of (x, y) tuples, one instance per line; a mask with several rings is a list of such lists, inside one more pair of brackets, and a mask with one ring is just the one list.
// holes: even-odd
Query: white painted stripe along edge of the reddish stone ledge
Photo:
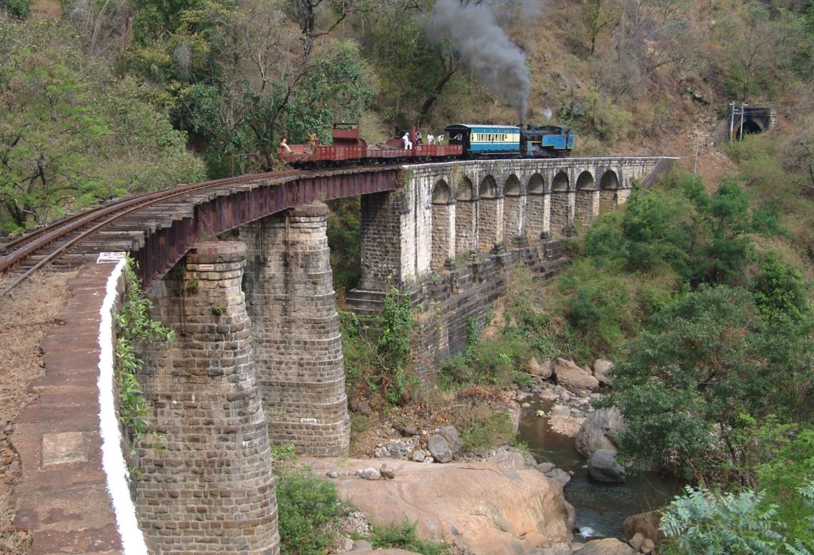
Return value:
[[(108, 254), (108, 253), (104, 253)], [(99, 256), (98, 262), (110, 262), (112, 256)], [(147, 544), (138, 527), (136, 506), (130, 499), (129, 472), (121, 453), (121, 430), (116, 417), (113, 387), (113, 305), (116, 303), (116, 285), (125, 267), (123, 256), (107, 277), (105, 297), (99, 318), (99, 434), (102, 436), (102, 466), (107, 476), (107, 493), (116, 513), (116, 528), (121, 537), (125, 555), (147, 555)]]

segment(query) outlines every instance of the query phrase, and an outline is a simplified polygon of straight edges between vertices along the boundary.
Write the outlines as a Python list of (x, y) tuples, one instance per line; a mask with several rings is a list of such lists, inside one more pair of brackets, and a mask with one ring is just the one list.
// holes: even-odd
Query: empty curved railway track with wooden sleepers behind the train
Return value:
[(7, 277), (10, 279), (2, 284), (0, 296), (6, 295), (26, 277), (46, 264), (55, 262), (72, 249), (76, 249), (81, 243), (88, 242), (101, 233), (109, 231), (109, 236), (100, 241), (100, 245), (106, 241), (107, 243), (111, 240), (115, 242), (117, 236), (120, 239), (126, 239), (130, 235), (130, 241), (132, 241), (133, 234), (136, 233), (132, 229), (137, 228), (138, 225), (133, 225), (133, 221), (128, 223), (128, 220), (138, 219), (139, 214), (145, 213), (150, 208), (171, 208), (173, 203), (178, 201), (229, 186), (252, 181), (285, 181), (310, 173), (313, 172), (291, 170), (182, 185), (173, 189), (125, 197), (46, 225), (2, 245), (0, 272), (7, 273)]

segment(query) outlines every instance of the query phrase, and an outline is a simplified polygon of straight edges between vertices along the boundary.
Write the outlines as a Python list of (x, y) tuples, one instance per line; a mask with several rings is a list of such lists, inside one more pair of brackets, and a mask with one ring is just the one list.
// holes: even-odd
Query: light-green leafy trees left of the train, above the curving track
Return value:
[(0, 20), (0, 226), (203, 177), (182, 133), (50, 22)]

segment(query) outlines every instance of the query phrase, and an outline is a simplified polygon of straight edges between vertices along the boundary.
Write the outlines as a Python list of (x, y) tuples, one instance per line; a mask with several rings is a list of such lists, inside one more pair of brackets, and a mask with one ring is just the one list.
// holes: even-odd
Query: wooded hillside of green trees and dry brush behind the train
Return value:
[[(0, 227), (275, 167), (334, 121), (573, 125), (584, 154), (694, 158), (731, 102), (812, 185), (810, 0), (0, 0)], [(172, 129), (170, 129), (172, 126)], [(180, 147), (186, 143), (187, 154)], [(78, 148), (78, 145), (82, 145)], [(716, 177), (725, 160), (702, 153)], [(708, 161), (708, 164), (705, 162)], [(138, 168), (138, 172), (135, 171)], [(79, 179), (81, 176), (81, 179)]]

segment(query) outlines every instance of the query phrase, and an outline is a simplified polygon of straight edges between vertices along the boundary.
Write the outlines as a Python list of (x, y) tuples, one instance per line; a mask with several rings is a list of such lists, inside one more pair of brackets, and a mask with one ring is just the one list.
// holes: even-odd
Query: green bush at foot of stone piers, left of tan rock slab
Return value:
[(325, 553), (334, 538), (330, 525), (347, 506), (339, 501), (334, 484), (317, 478), (307, 466), (295, 467), (293, 445), (272, 448), (272, 457), (281, 553)]

